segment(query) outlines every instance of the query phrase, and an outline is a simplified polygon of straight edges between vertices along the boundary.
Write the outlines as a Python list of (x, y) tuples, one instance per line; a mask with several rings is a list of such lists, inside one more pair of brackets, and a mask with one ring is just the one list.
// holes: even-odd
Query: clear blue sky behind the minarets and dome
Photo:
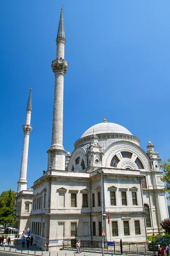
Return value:
[(0, 1), (0, 192), (17, 189), (31, 83), (28, 187), (47, 169), (56, 36), (64, 4), (64, 148), (92, 125), (125, 126), (170, 157), (169, 0)]

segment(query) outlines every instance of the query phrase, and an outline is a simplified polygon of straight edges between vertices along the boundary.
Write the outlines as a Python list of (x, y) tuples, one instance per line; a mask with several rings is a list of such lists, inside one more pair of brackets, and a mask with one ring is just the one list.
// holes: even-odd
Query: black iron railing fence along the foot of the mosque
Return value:
[[(63, 249), (76, 250), (77, 239), (64, 239)], [(102, 240), (81, 240), (81, 250), (102, 253)], [(105, 253), (136, 254), (156, 256), (158, 246), (153, 242), (105, 241)]]

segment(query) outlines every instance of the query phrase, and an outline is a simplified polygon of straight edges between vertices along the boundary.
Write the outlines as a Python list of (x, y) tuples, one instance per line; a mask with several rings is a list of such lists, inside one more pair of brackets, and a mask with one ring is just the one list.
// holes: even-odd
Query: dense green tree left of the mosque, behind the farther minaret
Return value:
[(0, 194), (0, 224), (14, 224), (15, 192), (11, 189)]

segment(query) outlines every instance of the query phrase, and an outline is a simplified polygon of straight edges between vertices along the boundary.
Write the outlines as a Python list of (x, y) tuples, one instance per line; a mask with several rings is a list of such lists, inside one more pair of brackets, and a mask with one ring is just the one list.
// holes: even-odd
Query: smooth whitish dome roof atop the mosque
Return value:
[(84, 132), (84, 134), (82, 134), (81, 138), (92, 135), (93, 131), (95, 132), (95, 134), (119, 133), (133, 135), (122, 125), (102, 122), (97, 125), (91, 126), (91, 128), (89, 128), (87, 131)]

